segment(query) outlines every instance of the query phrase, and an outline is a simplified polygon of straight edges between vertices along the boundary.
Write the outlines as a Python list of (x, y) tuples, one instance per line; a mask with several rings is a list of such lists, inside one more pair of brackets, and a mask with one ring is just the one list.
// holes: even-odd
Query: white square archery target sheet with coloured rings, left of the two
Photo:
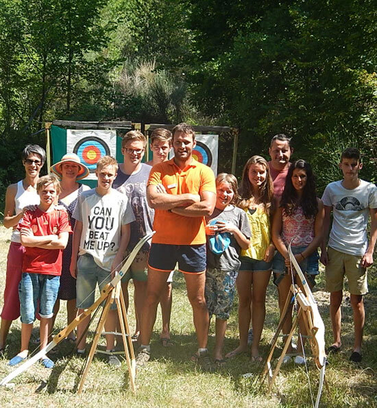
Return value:
[(117, 132), (115, 130), (67, 129), (66, 152), (79, 156), (90, 173), (86, 180), (97, 180), (95, 169), (103, 156), (117, 156)]

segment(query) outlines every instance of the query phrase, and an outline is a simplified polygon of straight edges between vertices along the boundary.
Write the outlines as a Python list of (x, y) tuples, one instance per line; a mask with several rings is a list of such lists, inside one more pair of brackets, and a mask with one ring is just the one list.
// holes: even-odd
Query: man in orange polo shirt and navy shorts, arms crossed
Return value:
[(206, 230), (204, 217), (216, 202), (215, 176), (192, 156), (195, 131), (186, 123), (173, 128), (174, 157), (151, 169), (147, 200), (155, 209), (154, 230), (148, 259), (147, 300), (141, 320), (139, 365), (149, 360), (149, 341), (156, 310), (169, 273), (175, 264), (184, 274), (187, 296), (193, 307), (198, 351), (193, 360), (210, 369), (207, 351), (208, 310), (204, 300)]

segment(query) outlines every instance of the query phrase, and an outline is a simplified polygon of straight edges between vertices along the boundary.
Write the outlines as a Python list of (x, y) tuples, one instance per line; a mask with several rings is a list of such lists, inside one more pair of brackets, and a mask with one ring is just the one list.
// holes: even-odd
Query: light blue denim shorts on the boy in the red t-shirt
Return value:
[(60, 276), (23, 272), (19, 285), (21, 323), (33, 323), (37, 312), (45, 319), (53, 317), (59, 287)]

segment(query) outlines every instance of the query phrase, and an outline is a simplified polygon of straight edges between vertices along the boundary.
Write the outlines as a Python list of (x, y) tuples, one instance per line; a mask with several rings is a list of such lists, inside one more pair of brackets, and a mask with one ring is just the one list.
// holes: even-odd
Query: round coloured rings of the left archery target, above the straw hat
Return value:
[(80, 139), (73, 147), (73, 153), (80, 157), (83, 165), (94, 173), (97, 161), (103, 156), (110, 156), (108, 144), (97, 136), (88, 136)]

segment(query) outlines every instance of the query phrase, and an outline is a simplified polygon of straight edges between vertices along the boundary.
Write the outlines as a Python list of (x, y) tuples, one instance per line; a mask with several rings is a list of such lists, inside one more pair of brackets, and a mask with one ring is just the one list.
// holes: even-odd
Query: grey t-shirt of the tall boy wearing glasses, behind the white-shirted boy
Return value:
[[(132, 211), (134, 211), (135, 221), (131, 224), (131, 237), (128, 250), (132, 250), (136, 243), (153, 231), (154, 210), (147, 204), (147, 181), (151, 166), (141, 163), (141, 169), (134, 174), (125, 174), (118, 169), (117, 178), (112, 187), (128, 197)], [(150, 243), (145, 243), (144, 251), (148, 251)]]

